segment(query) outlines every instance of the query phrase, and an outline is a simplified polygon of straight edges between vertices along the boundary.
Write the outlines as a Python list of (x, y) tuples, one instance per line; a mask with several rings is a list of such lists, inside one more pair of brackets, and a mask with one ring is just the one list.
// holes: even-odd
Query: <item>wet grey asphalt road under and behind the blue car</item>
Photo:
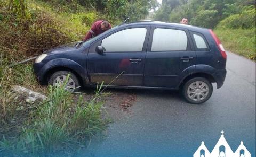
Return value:
[(227, 77), (204, 104), (179, 92), (134, 90), (133, 114), (111, 123), (105, 140), (83, 156), (193, 156), (202, 141), (211, 152), (221, 130), (233, 150), (243, 141), (255, 156), (255, 62), (227, 53)]

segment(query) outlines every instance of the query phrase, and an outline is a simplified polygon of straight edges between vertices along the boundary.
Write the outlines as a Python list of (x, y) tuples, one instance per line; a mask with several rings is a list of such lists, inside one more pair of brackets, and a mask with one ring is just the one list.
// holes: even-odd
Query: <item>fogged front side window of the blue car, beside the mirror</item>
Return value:
[(142, 51), (146, 28), (125, 29), (102, 40), (101, 45), (107, 52)]

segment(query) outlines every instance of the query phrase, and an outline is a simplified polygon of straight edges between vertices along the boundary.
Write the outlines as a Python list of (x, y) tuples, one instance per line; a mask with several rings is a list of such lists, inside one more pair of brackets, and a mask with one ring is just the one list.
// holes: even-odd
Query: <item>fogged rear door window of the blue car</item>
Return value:
[(156, 28), (153, 33), (151, 51), (184, 51), (188, 47), (185, 31)]

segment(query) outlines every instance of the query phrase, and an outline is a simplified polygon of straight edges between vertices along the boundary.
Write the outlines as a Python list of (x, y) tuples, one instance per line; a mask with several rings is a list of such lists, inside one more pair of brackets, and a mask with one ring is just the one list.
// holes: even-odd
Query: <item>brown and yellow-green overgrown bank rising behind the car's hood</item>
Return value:
[(68, 5), (54, 5), (51, 1), (28, 0), (26, 4), (29, 17), (26, 20), (8, 10), (7, 0), (0, 4), (0, 51), (9, 64), (81, 40), (100, 18), (97, 11), (79, 5), (74, 6), (74, 12), (73, 8), (63, 10)]

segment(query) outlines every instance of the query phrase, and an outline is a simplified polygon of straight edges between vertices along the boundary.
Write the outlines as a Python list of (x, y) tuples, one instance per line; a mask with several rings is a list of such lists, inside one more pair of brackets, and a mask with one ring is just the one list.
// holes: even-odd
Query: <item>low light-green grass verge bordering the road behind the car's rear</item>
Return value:
[(253, 29), (216, 29), (223, 47), (238, 55), (256, 60), (256, 28)]

